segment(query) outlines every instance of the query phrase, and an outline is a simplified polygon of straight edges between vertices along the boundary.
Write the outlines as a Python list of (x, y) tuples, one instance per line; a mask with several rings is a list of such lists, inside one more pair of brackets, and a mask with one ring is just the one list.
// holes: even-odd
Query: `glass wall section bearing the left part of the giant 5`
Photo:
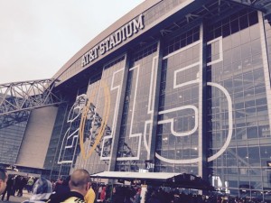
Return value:
[(198, 175), (200, 27), (164, 43), (155, 171)]

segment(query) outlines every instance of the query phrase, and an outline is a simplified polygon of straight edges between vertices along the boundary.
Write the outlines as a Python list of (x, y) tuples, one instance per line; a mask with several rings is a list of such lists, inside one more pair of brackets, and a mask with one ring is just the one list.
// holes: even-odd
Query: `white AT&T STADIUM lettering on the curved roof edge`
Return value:
[(133, 19), (129, 23), (126, 23), (116, 32), (109, 35), (105, 40), (99, 42), (98, 45), (93, 47), (81, 58), (81, 66), (88, 65), (91, 61), (98, 59), (99, 55), (105, 54), (107, 51), (112, 50), (121, 42), (132, 37), (139, 30), (144, 29), (144, 18), (143, 14), (140, 14), (137, 18)]

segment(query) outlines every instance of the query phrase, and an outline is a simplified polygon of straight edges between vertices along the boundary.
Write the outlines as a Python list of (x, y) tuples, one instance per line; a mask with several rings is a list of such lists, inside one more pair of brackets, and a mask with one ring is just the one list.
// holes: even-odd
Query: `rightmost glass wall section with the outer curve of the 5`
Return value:
[(231, 195), (248, 197), (270, 189), (270, 118), (259, 21), (256, 11), (244, 10), (207, 29), (210, 181)]

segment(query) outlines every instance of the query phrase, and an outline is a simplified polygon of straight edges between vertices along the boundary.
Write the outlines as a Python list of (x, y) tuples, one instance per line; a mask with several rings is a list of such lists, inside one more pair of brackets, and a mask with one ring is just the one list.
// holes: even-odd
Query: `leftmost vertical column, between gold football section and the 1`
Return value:
[[(122, 88), (120, 91), (120, 99), (119, 99), (119, 106), (124, 106), (125, 104), (125, 96), (126, 96), (126, 84), (127, 84), (127, 78), (128, 78), (128, 72), (130, 68), (130, 53), (126, 52), (126, 58), (125, 58), (125, 69), (124, 69), (124, 75), (123, 75), (123, 83)], [(120, 125), (121, 125), (121, 117), (123, 114), (123, 107), (118, 108), (117, 112), (117, 123), (116, 123), (116, 133), (113, 147), (112, 147), (112, 156), (109, 160), (108, 164), (108, 171), (115, 171), (116, 161), (117, 161), (117, 147), (118, 147), (118, 140), (119, 140), (119, 134), (120, 134)]]

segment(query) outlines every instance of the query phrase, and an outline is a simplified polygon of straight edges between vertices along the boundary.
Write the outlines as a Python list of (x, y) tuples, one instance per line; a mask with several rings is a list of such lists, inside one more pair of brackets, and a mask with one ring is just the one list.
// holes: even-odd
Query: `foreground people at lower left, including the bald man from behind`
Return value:
[(17, 196), (22, 196), (23, 188), (26, 188), (32, 195), (23, 203), (94, 203), (95, 192), (90, 185), (89, 172), (83, 169), (73, 171), (69, 179), (55, 184), (44, 178), (32, 180), (32, 178), (8, 176), (4, 169), (0, 169), (0, 195), (4, 199), (7, 193), (6, 200), (9, 200), (10, 195), (15, 195), (15, 192)]

